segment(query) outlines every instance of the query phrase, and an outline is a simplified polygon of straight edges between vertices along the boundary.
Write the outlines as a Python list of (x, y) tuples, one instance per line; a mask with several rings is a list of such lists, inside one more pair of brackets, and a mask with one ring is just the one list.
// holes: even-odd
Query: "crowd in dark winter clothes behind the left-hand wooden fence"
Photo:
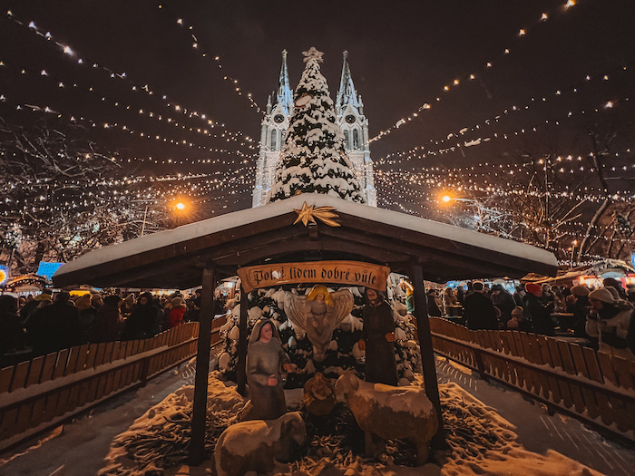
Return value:
[[(220, 296), (219, 296), (220, 297)], [(216, 299), (222, 307), (222, 299)], [(200, 317), (200, 289), (122, 297), (44, 290), (37, 296), (0, 296), (0, 366), (73, 345), (146, 339)]]

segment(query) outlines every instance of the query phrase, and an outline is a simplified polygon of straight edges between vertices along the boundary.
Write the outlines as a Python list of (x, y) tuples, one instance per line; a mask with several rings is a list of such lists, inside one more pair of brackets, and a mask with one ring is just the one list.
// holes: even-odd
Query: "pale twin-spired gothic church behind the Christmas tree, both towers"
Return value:
[[(364, 190), (366, 204), (376, 207), (377, 196), (373, 179), (373, 161), (368, 147), (368, 120), (364, 115), (362, 97), (357, 94), (344, 52), (342, 77), (337, 91), (336, 121), (344, 133), (345, 148), (353, 170)], [(293, 91), (288, 83), (287, 51), (282, 52), (282, 67), (278, 89), (267, 102), (267, 114), (260, 130), (260, 151), (256, 165), (256, 185), (252, 207), (265, 205), (271, 189), (280, 151), (288, 130), (288, 121), (293, 113)]]

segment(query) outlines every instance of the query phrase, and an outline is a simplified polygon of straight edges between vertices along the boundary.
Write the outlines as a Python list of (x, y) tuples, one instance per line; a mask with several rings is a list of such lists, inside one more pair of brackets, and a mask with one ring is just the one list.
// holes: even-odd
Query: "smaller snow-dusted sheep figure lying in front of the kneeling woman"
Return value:
[(269, 473), (274, 460), (287, 462), (307, 439), (307, 428), (299, 412), (277, 420), (249, 420), (231, 425), (220, 434), (214, 448), (219, 476), (242, 476), (248, 471)]

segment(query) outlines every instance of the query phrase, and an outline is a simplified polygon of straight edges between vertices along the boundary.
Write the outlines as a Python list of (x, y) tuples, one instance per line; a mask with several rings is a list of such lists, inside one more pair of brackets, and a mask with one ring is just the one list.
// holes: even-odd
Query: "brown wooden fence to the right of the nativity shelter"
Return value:
[(635, 362), (545, 335), (473, 331), (430, 318), (435, 352), (568, 413), (633, 439)]

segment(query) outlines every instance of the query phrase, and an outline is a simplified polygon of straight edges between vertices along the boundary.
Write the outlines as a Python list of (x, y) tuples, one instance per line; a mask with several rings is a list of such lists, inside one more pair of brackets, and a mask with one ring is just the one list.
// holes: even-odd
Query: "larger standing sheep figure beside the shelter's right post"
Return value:
[(366, 455), (373, 455), (373, 435), (383, 440), (407, 438), (416, 444), (417, 465), (428, 458), (428, 446), (439, 423), (435, 407), (421, 387), (372, 384), (353, 371), (342, 374), (335, 385), (344, 395), (357, 424), (366, 436)]

